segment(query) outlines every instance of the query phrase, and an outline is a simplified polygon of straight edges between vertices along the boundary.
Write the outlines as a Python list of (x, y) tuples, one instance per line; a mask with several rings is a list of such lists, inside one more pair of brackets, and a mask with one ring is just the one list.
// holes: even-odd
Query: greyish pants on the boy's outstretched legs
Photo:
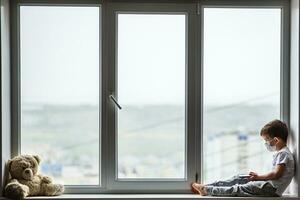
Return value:
[(217, 181), (205, 185), (208, 195), (211, 196), (240, 196), (240, 197), (278, 197), (274, 188), (267, 181), (249, 181), (238, 175), (226, 181)]

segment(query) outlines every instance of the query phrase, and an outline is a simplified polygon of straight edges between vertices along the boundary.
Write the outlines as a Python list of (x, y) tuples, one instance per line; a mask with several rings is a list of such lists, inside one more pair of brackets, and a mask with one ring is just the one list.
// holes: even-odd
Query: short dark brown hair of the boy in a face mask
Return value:
[(289, 131), (287, 128), (287, 125), (278, 120), (275, 119), (273, 121), (270, 121), (267, 123), (260, 131), (260, 135), (267, 134), (271, 138), (278, 137), (281, 138), (285, 143), (287, 142), (287, 138), (289, 135)]

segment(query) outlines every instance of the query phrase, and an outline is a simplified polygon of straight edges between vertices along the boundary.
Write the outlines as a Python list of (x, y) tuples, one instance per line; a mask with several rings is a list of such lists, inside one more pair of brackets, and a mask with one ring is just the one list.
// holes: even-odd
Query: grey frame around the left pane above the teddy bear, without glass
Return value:
[[(98, 7), (99, 8), (99, 98), (102, 94), (102, 4), (101, 0), (66, 0), (66, 1), (47, 1), (47, 0), (16, 0), (11, 3), (11, 87), (12, 87), (12, 106), (11, 106), (11, 157), (21, 153), (21, 73), (20, 73), (20, 7), (21, 6), (65, 6), (65, 7)], [(101, 101), (99, 99), (99, 177), (104, 173), (102, 159), (102, 116)], [(99, 178), (98, 185), (65, 185), (66, 193), (101, 193), (103, 192), (103, 179)]]

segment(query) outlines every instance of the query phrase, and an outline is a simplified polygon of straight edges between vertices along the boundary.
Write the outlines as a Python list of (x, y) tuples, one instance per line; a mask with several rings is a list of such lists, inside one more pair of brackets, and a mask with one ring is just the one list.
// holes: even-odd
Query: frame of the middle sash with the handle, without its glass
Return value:
[[(192, 109), (195, 105), (194, 102), (194, 79), (195, 79), (195, 62), (193, 54), (193, 49), (195, 44), (193, 43), (193, 21), (196, 17), (195, 3), (109, 3), (107, 7), (107, 16), (109, 27), (107, 27), (110, 47), (107, 53), (111, 56), (104, 56), (104, 58), (110, 57), (108, 64), (105, 66), (110, 66), (108, 68), (108, 92), (117, 96), (117, 14), (119, 13), (145, 13), (145, 14), (185, 14), (186, 15), (186, 119), (185, 119), (185, 130), (186, 130), (186, 142), (189, 145), (186, 146), (186, 179), (185, 180), (170, 180), (170, 179), (122, 179), (117, 180), (117, 166), (116, 166), (116, 120), (118, 109), (108, 102), (108, 133), (109, 133), (109, 171), (108, 175), (108, 188), (115, 190), (117, 192), (126, 193), (145, 193), (145, 192), (163, 192), (163, 193), (187, 193), (190, 192), (190, 183), (195, 181), (196, 165), (195, 161), (195, 131), (194, 131), (194, 115), (195, 111)], [(188, 30), (188, 31), (187, 31)], [(108, 47), (108, 46), (107, 46)], [(187, 68), (187, 66), (189, 68)], [(105, 95), (107, 96), (107, 95)], [(134, 190), (133, 190), (134, 188)]]

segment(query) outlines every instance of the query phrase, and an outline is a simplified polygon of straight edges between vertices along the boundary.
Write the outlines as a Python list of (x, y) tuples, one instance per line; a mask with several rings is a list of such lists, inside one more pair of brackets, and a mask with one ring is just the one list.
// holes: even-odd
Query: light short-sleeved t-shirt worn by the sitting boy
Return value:
[(292, 181), (295, 173), (293, 154), (288, 147), (280, 149), (273, 155), (272, 169), (275, 169), (275, 167), (279, 164), (285, 165), (282, 176), (279, 179), (269, 180), (268, 182), (276, 188), (276, 194), (281, 196)]

